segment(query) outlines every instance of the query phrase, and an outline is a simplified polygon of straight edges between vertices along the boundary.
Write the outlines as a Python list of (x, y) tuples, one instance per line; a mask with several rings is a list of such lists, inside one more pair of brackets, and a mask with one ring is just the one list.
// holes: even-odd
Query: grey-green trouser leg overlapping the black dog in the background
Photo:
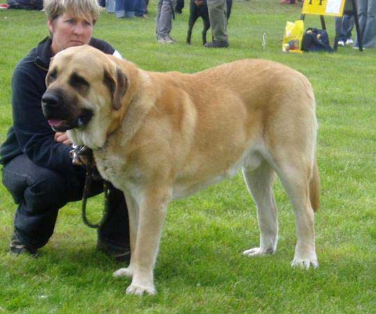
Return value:
[(214, 40), (227, 42), (226, 0), (207, 0), (207, 9)]

